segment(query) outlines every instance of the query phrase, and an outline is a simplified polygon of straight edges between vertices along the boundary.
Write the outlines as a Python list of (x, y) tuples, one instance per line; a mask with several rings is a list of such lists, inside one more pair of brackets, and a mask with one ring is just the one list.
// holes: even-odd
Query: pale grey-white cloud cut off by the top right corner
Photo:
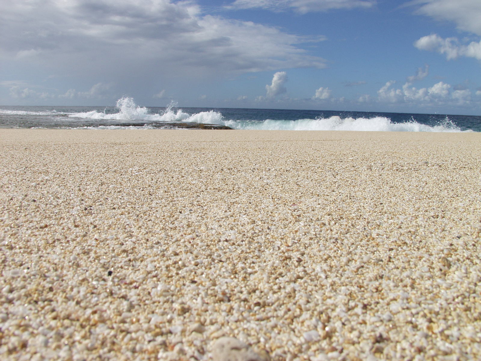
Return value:
[(452, 21), (460, 30), (481, 35), (480, 0), (418, 0), (415, 3), (422, 4), (418, 14)]

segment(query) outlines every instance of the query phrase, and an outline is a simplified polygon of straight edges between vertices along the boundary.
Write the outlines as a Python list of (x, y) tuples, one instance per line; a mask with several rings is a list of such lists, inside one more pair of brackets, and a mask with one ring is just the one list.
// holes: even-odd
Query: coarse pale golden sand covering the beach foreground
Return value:
[(481, 359), (481, 133), (1, 129), (0, 150), (2, 360)]

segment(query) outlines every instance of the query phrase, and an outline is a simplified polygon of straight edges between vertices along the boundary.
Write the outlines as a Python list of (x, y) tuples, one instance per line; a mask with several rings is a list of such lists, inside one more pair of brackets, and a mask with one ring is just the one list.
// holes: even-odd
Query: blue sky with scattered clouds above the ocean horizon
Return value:
[(480, 0), (15, 0), (0, 105), (481, 115)]

